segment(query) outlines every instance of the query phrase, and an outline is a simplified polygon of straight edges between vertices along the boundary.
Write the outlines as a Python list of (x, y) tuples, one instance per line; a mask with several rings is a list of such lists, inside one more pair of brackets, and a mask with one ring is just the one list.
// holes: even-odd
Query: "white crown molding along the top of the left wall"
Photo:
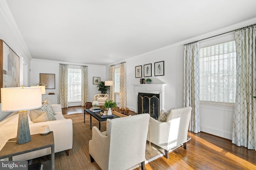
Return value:
[(10, 29), (14, 33), (18, 43), (20, 44), (20, 46), (24, 50), (24, 53), (31, 60), (32, 57), (31, 57), (30, 52), (28, 50), (28, 46), (26, 45), (26, 43), (23, 39), (23, 36), (20, 33), (20, 29), (18, 28), (14, 18), (12, 17), (12, 13), (10, 12), (10, 9), (8, 7), (8, 4), (6, 3), (6, 0), (0, 0), (0, 10), (1, 10), (4, 18), (6, 19), (7, 23), (9, 24)]

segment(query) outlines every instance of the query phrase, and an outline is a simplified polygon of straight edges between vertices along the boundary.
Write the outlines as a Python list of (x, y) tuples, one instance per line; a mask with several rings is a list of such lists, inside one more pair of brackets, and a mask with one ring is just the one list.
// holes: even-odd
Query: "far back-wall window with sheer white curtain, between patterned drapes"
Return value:
[(68, 102), (81, 102), (82, 77), (80, 68), (68, 68)]

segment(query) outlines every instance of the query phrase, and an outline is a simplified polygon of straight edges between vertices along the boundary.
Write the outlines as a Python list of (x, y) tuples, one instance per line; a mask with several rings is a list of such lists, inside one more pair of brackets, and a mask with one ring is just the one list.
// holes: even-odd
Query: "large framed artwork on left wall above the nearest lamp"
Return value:
[(20, 87), (20, 57), (2, 39), (0, 39), (0, 75), (0, 88)]

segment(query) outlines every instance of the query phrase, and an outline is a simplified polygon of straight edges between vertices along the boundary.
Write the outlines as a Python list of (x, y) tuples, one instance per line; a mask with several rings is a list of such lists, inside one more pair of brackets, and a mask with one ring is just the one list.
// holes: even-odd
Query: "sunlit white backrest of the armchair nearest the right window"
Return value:
[(170, 123), (170, 131), (167, 150), (187, 141), (191, 111), (192, 107), (182, 107), (172, 109), (168, 114), (166, 121)]

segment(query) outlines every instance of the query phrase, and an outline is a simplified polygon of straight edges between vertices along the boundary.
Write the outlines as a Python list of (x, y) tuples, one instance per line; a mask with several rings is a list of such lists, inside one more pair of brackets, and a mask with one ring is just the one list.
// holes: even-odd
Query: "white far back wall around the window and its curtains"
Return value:
[(60, 94), (60, 84), (59, 84), (59, 64), (71, 64), (70, 67), (74, 67), (73, 65), (86, 65), (88, 66), (88, 93), (89, 93), (89, 101), (93, 101), (93, 96), (95, 94), (100, 94), (98, 91), (97, 85), (92, 84), (92, 77), (100, 77), (101, 81), (105, 81), (106, 78), (106, 68), (101, 65), (93, 65), (93, 64), (81, 64), (81, 63), (67, 63), (61, 61), (50, 61), (50, 60), (39, 60), (32, 59), (31, 60), (31, 70), (30, 76), (31, 86), (36, 86), (40, 83), (40, 73), (46, 74), (55, 74), (55, 89), (46, 89), (46, 94), (49, 92), (54, 92), (58, 96), (59, 103), (59, 94)]

